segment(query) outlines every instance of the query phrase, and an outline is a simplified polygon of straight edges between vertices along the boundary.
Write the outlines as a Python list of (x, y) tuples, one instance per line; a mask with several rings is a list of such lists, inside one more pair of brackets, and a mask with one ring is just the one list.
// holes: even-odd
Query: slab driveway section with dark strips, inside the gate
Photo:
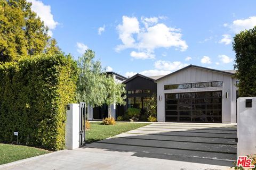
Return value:
[(236, 159), (236, 125), (153, 123), (87, 145), (137, 157), (232, 166)]

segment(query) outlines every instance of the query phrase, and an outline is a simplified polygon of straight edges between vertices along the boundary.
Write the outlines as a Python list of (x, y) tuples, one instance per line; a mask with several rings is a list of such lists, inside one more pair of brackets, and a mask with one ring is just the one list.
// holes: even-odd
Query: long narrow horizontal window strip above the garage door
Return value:
[(186, 83), (186, 84), (167, 84), (167, 85), (164, 85), (164, 90), (190, 89), (190, 88), (202, 88), (202, 87), (221, 87), (221, 86), (222, 86), (222, 81)]

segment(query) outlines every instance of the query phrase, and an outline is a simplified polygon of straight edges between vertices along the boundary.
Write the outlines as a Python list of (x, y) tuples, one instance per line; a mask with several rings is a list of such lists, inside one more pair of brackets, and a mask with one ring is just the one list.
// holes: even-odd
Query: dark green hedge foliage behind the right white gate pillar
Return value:
[(256, 96), (256, 27), (245, 30), (234, 37), (236, 52), (236, 78), (239, 79), (239, 96)]

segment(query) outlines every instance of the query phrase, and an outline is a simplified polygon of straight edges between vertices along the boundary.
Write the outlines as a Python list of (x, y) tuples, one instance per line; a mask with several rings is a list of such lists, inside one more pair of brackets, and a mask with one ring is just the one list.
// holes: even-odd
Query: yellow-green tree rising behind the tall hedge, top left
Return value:
[(42, 52), (56, 53), (56, 41), (26, 0), (0, 0), (0, 62), (18, 61)]

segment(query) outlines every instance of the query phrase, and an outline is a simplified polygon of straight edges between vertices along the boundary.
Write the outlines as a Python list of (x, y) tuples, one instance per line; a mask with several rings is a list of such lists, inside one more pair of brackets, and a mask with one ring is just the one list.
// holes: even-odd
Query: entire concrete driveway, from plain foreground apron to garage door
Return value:
[(153, 123), (0, 169), (229, 169), (235, 138), (236, 126), (230, 124)]

